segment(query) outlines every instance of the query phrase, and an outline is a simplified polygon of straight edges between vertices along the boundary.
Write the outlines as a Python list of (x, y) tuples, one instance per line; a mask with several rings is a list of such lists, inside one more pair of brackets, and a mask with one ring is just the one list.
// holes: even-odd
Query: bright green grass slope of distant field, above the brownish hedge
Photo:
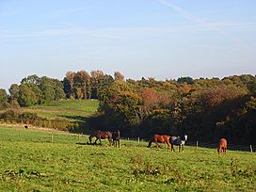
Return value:
[(62, 100), (51, 104), (40, 104), (21, 108), (24, 112), (37, 113), (42, 118), (85, 121), (95, 113), (99, 105), (97, 100)]

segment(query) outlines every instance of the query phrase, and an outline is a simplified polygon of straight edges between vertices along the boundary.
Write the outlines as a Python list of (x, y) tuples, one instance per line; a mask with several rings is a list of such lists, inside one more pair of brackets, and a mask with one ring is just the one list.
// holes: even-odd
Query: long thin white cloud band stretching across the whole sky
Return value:
[[(44, 30), (1, 30), (0, 39), (15, 38), (40, 38), (40, 37), (66, 37), (81, 36), (89, 38), (101, 38), (107, 40), (131, 40), (145, 37), (168, 37), (170, 33), (189, 33), (189, 32), (207, 32), (207, 31), (226, 31), (234, 28), (256, 27), (256, 23), (207, 23), (201, 27), (201, 24), (186, 24), (178, 26), (136, 26), (136, 27), (106, 27), (98, 29), (89, 29), (77, 24), (63, 24), (64, 27), (58, 29)], [(216, 30), (217, 29), (217, 30)], [(228, 36), (228, 33), (221, 33)], [(231, 36), (229, 36), (231, 38)]]

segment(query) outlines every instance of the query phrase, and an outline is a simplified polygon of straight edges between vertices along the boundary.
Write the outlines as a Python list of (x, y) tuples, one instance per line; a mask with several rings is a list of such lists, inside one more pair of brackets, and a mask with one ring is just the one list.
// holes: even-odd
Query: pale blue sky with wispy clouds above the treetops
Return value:
[(0, 88), (28, 75), (256, 73), (255, 0), (0, 0)]

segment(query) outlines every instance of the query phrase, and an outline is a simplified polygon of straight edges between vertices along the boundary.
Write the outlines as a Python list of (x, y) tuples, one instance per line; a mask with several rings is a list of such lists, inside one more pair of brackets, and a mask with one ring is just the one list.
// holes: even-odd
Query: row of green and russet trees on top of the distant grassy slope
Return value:
[(9, 94), (0, 88), (0, 108), (49, 104), (61, 99), (98, 99), (100, 89), (123, 78), (120, 72), (112, 77), (102, 71), (67, 72), (62, 81), (33, 74), (24, 77), (20, 85), (12, 84)]

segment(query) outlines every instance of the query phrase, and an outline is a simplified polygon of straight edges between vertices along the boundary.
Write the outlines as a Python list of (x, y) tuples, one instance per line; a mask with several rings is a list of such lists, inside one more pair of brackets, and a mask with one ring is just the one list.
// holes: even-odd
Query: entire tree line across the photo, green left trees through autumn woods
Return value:
[(60, 99), (98, 99), (91, 126), (120, 129), (122, 136), (187, 134), (191, 140), (227, 137), (255, 144), (256, 78), (124, 79), (102, 71), (67, 72), (62, 81), (30, 75), (0, 89), (0, 107), (47, 104)]

